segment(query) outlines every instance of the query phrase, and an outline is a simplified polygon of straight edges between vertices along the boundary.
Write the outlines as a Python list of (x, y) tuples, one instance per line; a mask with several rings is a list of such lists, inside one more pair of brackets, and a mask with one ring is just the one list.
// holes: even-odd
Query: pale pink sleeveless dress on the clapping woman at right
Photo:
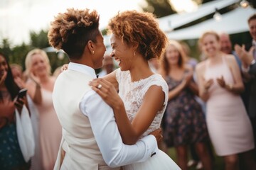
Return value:
[(238, 154), (253, 149), (252, 125), (239, 95), (222, 88), (216, 81), (223, 76), (226, 84), (234, 84), (233, 75), (226, 64), (209, 66), (206, 61), (206, 81), (213, 79), (206, 102), (206, 123), (210, 139), (218, 156)]

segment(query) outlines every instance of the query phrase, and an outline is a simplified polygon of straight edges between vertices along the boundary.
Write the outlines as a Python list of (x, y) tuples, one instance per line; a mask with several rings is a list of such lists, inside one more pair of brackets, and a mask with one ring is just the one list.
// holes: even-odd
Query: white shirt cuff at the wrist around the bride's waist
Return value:
[(149, 159), (149, 157), (155, 157), (154, 155), (157, 154), (159, 150), (157, 147), (156, 137), (154, 137), (154, 135), (147, 135), (139, 141), (144, 142), (146, 146), (146, 152), (144, 154), (144, 157), (139, 162), (144, 162)]

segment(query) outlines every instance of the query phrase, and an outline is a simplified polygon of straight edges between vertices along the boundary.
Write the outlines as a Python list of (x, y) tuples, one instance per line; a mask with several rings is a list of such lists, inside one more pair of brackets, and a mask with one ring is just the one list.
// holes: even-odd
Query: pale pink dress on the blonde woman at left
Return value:
[(37, 106), (39, 112), (39, 141), (43, 169), (52, 170), (57, 159), (62, 128), (53, 108), (52, 91), (41, 89), (43, 101)]

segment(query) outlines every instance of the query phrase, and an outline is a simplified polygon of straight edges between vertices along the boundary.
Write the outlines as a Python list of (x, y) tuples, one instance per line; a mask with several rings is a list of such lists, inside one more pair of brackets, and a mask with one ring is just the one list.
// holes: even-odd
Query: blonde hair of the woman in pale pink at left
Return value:
[(28, 52), (28, 55), (26, 55), (26, 59), (25, 59), (25, 67), (26, 67), (26, 74), (28, 74), (29, 72), (31, 72), (31, 67), (32, 67), (32, 57), (33, 55), (41, 55), (43, 57), (43, 60), (46, 62), (46, 69), (48, 74), (50, 74), (50, 61), (49, 58), (46, 54), (45, 51), (41, 50), (41, 49), (34, 49), (31, 50), (30, 52)]

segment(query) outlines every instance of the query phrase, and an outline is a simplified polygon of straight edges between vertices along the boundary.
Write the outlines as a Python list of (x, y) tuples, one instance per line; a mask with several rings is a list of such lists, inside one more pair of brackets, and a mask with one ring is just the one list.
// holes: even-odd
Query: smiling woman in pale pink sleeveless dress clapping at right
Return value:
[[(255, 169), (252, 125), (240, 98), (244, 90), (240, 69), (233, 55), (220, 51), (220, 37), (206, 31), (199, 42), (208, 59), (196, 66), (199, 95), (206, 101), (210, 140), (225, 169), (238, 169), (238, 154), (248, 169)], [(246, 135), (245, 135), (246, 134)]]

